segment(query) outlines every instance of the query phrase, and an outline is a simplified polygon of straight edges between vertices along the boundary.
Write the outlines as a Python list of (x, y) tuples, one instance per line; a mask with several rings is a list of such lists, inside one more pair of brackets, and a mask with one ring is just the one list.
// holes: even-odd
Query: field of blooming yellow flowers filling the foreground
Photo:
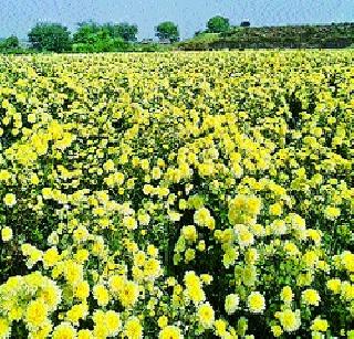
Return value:
[(353, 56), (0, 56), (0, 338), (354, 338)]

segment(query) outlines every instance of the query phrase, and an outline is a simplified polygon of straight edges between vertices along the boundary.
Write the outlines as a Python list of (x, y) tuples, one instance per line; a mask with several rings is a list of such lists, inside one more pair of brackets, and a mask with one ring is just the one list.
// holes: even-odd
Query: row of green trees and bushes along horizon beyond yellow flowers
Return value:
[[(230, 29), (229, 19), (217, 15), (210, 18), (205, 31), (220, 33)], [(124, 51), (155, 51), (162, 49), (162, 44), (171, 44), (180, 40), (179, 29), (175, 22), (164, 21), (155, 27), (155, 35), (159, 39), (159, 44), (152, 39), (137, 42), (138, 27), (127, 22), (103, 23), (85, 21), (77, 23), (74, 33), (61, 23), (37, 23), (28, 33), (29, 45), (21, 46), (19, 39), (11, 35), (0, 41), (0, 52), (20, 53), (32, 52), (124, 52)]]

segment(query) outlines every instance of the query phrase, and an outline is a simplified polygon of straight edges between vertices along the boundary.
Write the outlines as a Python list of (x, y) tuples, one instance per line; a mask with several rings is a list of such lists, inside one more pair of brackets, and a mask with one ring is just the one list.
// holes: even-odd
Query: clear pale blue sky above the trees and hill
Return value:
[(175, 21), (181, 38), (192, 36), (214, 15), (232, 24), (248, 19), (252, 25), (354, 21), (354, 0), (0, 0), (0, 36), (25, 38), (39, 21), (75, 23), (136, 23), (138, 38), (153, 38), (154, 27)]

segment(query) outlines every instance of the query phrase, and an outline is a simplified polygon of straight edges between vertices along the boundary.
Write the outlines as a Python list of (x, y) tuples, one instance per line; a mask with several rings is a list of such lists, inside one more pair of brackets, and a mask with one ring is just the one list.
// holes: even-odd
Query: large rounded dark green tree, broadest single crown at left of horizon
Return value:
[(67, 28), (60, 23), (38, 23), (28, 34), (34, 50), (66, 52), (71, 50), (71, 38)]

